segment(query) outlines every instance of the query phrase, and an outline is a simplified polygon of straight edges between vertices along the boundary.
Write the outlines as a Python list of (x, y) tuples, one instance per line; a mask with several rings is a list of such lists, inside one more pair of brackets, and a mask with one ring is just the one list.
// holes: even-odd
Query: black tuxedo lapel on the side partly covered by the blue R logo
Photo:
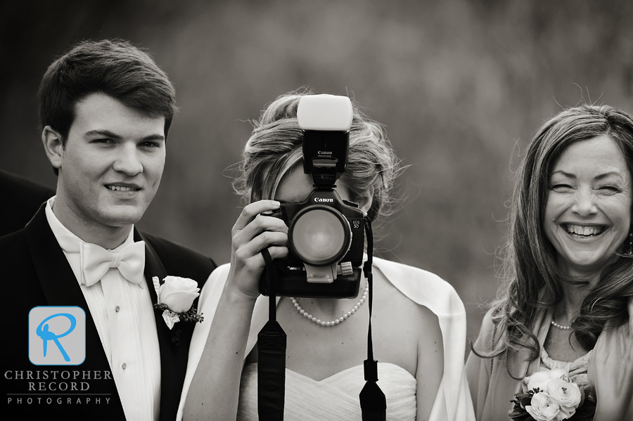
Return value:
[[(86, 359), (81, 370), (110, 372), (110, 364), (103, 351), (94, 319), (88, 308), (75, 273), (61, 250), (49, 222), (46, 219), (46, 203), (39, 208), (33, 219), (25, 226), (25, 240), (37, 280), (49, 306), (79, 306), (86, 313)], [(91, 382), (91, 391), (110, 394), (108, 405), (82, 405), (87, 417), (101, 419), (105, 415), (123, 419), (124, 413), (114, 380)], [(107, 408), (107, 409), (106, 409)]]

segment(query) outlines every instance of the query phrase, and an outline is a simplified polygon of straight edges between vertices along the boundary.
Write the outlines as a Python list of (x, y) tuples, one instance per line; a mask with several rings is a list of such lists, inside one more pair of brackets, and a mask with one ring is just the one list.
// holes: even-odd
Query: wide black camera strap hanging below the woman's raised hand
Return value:
[(268, 249), (262, 250), (269, 278), (268, 321), (257, 335), (257, 414), (260, 420), (283, 421), (286, 389), (286, 332), (277, 322), (276, 272)]

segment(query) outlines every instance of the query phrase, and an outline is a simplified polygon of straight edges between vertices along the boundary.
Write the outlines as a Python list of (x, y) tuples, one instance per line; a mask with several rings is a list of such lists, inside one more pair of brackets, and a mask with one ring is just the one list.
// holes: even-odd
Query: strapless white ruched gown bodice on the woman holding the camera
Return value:
[[(378, 363), (381, 387), (387, 397), (387, 420), (416, 419), (416, 379), (404, 368)], [(283, 419), (288, 421), (361, 421), (358, 395), (365, 385), (363, 366), (356, 365), (320, 382), (286, 369)], [(242, 371), (238, 421), (257, 421), (257, 363)]]

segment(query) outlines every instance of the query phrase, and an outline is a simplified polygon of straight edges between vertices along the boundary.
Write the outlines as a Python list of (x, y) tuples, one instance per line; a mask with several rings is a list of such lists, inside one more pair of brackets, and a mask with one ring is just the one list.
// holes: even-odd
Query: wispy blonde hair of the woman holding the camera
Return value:
[[(302, 163), (303, 133), (297, 122), (297, 108), (305, 95), (314, 93), (292, 91), (279, 96), (253, 122), (254, 129), (242, 152), (239, 176), (234, 181), (234, 189), (244, 202), (274, 199), (283, 176)], [(378, 216), (391, 212), (390, 193), (400, 171), (399, 160), (383, 126), (364, 115), (354, 101), (352, 108), (347, 171), (340, 179), (354, 202), (373, 194), (368, 215), (376, 221)]]

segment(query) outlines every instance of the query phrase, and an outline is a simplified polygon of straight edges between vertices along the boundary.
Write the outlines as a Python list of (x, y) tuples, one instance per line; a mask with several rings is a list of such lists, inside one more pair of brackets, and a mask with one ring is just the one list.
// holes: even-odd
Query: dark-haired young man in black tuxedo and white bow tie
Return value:
[[(191, 302), (192, 280), (202, 287), (215, 268), (134, 228), (160, 183), (174, 88), (131, 44), (83, 41), (49, 67), (39, 96), (58, 185), (25, 228), (0, 238), (5, 404), (25, 419), (174, 420), (195, 322), (181, 318), (170, 330), (166, 316), (174, 305), (187, 311), (179, 294)], [(159, 289), (167, 276), (190, 280), (168, 278)], [(176, 304), (163, 295), (167, 284), (176, 285)], [(153, 307), (157, 294), (169, 309)], [(58, 336), (46, 339), (44, 320), (41, 340), (30, 342), (36, 306), (84, 310), (82, 363), (30, 361), (31, 342), (44, 341), (46, 356), (63, 354), (65, 340), (53, 328)]]

